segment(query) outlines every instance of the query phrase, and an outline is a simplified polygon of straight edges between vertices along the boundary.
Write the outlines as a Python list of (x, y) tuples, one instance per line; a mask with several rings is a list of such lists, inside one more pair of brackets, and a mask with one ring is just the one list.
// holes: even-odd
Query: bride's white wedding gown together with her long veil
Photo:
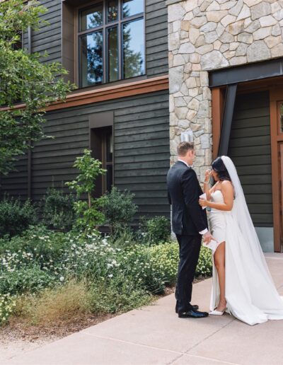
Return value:
[[(226, 242), (226, 312), (248, 325), (267, 320), (283, 320), (283, 300), (268, 270), (236, 168), (229, 157), (221, 158), (229, 171), (235, 199), (231, 212), (216, 209), (209, 212), (209, 226), (216, 241)], [(220, 190), (212, 193), (212, 200), (216, 203), (224, 202)], [(218, 303), (219, 282), (216, 267), (213, 265), (210, 310), (213, 311)]]

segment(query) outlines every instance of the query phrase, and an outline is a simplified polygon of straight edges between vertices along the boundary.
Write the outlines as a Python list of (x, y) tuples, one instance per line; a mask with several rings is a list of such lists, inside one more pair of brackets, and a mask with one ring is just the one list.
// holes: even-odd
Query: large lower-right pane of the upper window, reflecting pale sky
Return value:
[(144, 74), (144, 19), (123, 24), (124, 78)]

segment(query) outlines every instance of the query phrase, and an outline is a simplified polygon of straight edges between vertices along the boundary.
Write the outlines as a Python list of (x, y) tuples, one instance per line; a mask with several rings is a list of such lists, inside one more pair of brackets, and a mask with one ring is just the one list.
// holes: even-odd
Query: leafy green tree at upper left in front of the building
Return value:
[(74, 86), (57, 63), (44, 64), (42, 54), (17, 47), (28, 27), (37, 30), (46, 13), (40, 2), (9, 0), (0, 4), (0, 172), (13, 169), (15, 157), (44, 137), (45, 108), (64, 100)]

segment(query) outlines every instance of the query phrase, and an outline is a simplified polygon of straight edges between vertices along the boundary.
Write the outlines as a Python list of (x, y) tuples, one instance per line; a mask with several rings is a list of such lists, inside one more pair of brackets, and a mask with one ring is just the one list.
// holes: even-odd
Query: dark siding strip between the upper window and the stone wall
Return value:
[(164, 0), (146, 1), (146, 75), (168, 74), (167, 7)]

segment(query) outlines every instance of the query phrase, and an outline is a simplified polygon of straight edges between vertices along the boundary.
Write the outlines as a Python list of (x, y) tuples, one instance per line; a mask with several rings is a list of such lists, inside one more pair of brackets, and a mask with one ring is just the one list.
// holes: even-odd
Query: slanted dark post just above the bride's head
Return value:
[(231, 125), (233, 120), (233, 110), (236, 99), (236, 91), (237, 91), (236, 83), (229, 85), (227, 87), (223, 123), (221, 128), (221, 137), (219, 144), (219, 156), (223, 156), (228, 153)]

